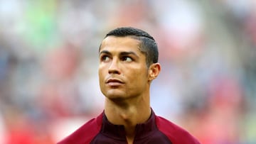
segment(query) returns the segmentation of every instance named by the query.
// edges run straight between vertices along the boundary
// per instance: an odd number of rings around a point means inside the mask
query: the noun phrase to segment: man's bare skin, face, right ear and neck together
[[[108,36],[99,52],[105,114],[111,123],[124,125],[128,143],[133,143],[137,123],[144,123],[151,115],[149,88],[161,70],[159,63],[146,66],[139,43],[129,36]]]

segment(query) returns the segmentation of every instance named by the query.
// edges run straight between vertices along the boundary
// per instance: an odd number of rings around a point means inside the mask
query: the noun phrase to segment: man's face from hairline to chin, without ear
[[[139,40],[108,36],[100,47],[100,89],[109,99],[129,99],[149,91],[146,57]]]

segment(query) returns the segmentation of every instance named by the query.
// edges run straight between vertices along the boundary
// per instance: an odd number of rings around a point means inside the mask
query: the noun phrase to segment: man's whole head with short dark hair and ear
[[[160,72],[154,39],[136,28],[117,28],[102,40],[99,79],[109,99],[149,96],[149,87]]]

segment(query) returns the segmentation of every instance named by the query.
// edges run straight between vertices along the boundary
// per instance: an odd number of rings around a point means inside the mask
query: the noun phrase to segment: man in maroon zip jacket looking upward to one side
[[[100,89],[105,110],[59,144],[196,144],[187,131],[156,116],[149,88],[159,75],[154,38],[137,28],[107,33],[99,50]]]

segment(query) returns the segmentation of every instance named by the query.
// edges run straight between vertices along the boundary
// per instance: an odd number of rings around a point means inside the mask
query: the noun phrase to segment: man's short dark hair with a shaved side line
[[[122,27],[110,31],[109,33],[107,33],[105,38],[110,35],[114,35],[117,37],[131,36],[132,38],[139,40],[141,42],[139,48],[146,56],[146,65],[149,67],[149,65],[151,65],[152,63],[158,62],[158,46],[154,38],[149,35],[149,33],[146,33],[145,31],[142,31],[138,28]]]

